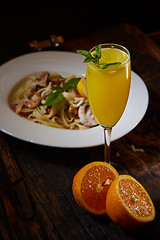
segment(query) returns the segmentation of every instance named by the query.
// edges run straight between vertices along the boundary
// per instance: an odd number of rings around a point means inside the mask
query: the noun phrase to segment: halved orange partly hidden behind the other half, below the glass
[[[85,165],[73,179],[72,192],[77,204],[92,214],[106,214],[106,195],[118,176],[116,169],[106,162]]]

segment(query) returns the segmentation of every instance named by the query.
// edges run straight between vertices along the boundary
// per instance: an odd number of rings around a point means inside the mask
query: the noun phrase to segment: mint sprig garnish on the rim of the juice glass
[[[100,63],[99,60],[101,58],[101,45],[97,45],[95,47],[95,53],[92,55],[89,51],[86,50],[77,50],[77,53],[85,56],[84,63],[92,62],[94,63],[98,69],[106,69],[109,67],[120,65],[121,62],[113,62],[113,63]]]

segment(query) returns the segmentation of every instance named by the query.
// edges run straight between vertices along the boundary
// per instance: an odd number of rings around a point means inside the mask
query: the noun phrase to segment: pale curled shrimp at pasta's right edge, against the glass
[[[88,101],[79,107],[78,115],[80,122],[86,127],[92,127],[98,124],[95,117],[93,116]]]

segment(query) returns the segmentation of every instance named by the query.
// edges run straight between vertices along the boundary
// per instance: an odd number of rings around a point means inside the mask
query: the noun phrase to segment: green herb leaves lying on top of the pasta
[[[63,92],[66,90],[75,90],[80,79],[81,78],[73,78],[65,83],[63,87],[58,85],[54,86],[52,90],[56,91],[48,95],[44,106],[52,106],[53,104],[61,102],[63,99]]]

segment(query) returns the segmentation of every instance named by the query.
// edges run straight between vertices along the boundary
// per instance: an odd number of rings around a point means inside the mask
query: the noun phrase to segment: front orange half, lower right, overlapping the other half
[[[106,197],[108,216],[121,227],[134,229],[155,218],[153,202],[144,187],[132,176],[119,175]]]

